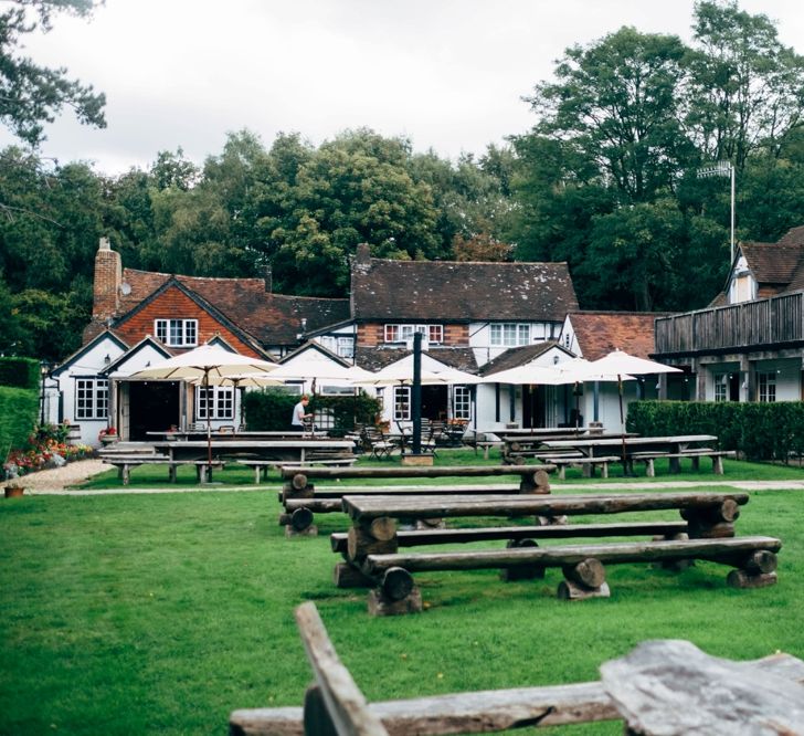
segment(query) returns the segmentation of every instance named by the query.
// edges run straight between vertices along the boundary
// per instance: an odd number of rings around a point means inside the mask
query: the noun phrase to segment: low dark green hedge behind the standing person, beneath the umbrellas
[[[250,430],[281,432],[290,425],[293,408],[298,403],[298,395],[286,393],[278,389],[247,391],[243,399],[245,422]],[[380,413],[380,402],[366,395],[351,396],[310,396],[308,412],[331,409],[335,427],[329,430],[334,437],[342,435],[355,429],[355,424],[372,424]]]

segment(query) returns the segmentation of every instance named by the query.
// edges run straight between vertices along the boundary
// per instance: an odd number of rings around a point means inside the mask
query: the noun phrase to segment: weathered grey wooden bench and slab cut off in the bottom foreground
[[[691,727],[679,719],[688,716],[695,718],[698,733],[723,733],[724,723],[730,733],[742,733],[740,726],[748,728],[758,714],[762,723],[779,724],[780,733],[793,734],[804,719],[801,660],[777,653],[730,662],[679,640],[639,644],[627,656],[604,663],[600,682],[367,703],[338,658],[315,603],[303,603],[295,616],[315,677],[304,707],[233,711],[230,736],[442,736],[623,719],[633,728],[630,733],[650,735],[656,730],[646,718],[655,718],[664,728],[674,724],[673,733],[686,733]],[[635,688],[634,682],[645,676],[657,686]],[[720,696],[709,696],[701,682],[716,687]],[[636,706],[635,697],[643,698]],[[741,704],[741,721],[734,703]]]

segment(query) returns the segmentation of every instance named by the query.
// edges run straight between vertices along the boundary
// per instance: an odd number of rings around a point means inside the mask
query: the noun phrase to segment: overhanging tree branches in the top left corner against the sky
[[[12,7],[0,12],[0,120],[15,136],[38,146],[44,139],[43,123],[52,123],[64,105],[86,125],[106,127],[103,107],[106,97],[95,94],[92,85],[82,85],[66,76],[64,69],[38,66],[17,52],[22,36],[38,28],[51,29],[52,15],[66,12],[88,17],[93,0],[11,0]]]

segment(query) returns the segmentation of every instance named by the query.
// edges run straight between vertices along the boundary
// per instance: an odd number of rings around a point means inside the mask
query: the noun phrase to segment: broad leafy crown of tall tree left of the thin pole
[[[535,133],[593,160],[622,203],[650,201],[673,187],[689,150],[678,109],[685,55],[678,38],[633,28],[568,49],[558,81],[527,99],[539,116]]]

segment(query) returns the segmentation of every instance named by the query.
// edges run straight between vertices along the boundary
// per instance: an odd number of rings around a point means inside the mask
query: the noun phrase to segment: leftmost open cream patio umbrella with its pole
[[[224,376],[240,374],[266,374],[276,368],[275,362],[252,358],[251,356],[231,353],[214,345],[202,345],[181,355],[176,355],[162,362],[137,371],[130,378],[165,378],[165,379],[201,379],[200,385],[210,387],[211,380]],[[209,401],[209,392],[207,392]],[[209,403],[207,406],[207,459],[212,472],[212,429],[210,425]]]

